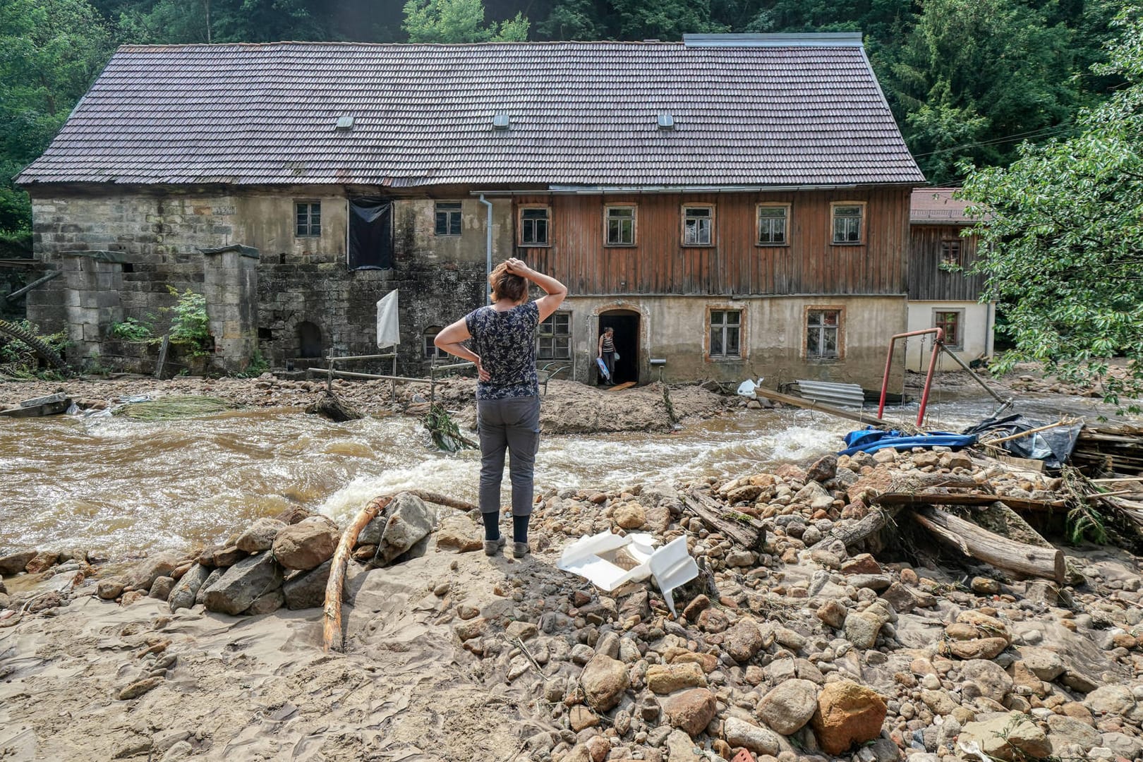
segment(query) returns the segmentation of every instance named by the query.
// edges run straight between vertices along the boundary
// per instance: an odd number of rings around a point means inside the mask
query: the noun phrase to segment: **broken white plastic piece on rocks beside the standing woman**
[[[671,592],[697,577],[698,564],[687,552],[686,537],[678,537],[658,550],[655,543],[654,537],[641,532],[620,537],[604,531],[581,537],[563,550],[555,568],[583,577],[608,593],[624,583],[654,577],[668,608],[674,613]]]

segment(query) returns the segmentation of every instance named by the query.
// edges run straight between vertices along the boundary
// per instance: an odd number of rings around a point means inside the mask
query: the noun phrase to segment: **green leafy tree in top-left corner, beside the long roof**
[[[87,0],[0,0],[0,231],[31,227],[10,178],[48,146],[111,50]]]

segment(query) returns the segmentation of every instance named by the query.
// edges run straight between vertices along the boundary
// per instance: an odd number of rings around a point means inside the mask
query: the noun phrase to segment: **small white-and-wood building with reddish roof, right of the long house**
[[[981,302],[984,275],[966,274],[976,264],[976,224],[954,199],[954,187],[913,191],[910,211],[909,330],[943,328],[945,346],[968,363],[992,355],[996,303]],[[913,340],[906,350],[910,370],[928,370],[932,344]],[[937,370],[960,366],[938,355]]]

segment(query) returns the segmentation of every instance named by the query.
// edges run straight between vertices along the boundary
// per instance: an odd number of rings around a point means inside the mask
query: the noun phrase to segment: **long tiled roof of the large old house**
[[[864,50],[844,37],[123,46],[17,181],[922,182]],[[509,129],[493,129],[497,113]],[[660,113],[673,130],[657,128]],[[343,115],[352,130],[335,128]]]

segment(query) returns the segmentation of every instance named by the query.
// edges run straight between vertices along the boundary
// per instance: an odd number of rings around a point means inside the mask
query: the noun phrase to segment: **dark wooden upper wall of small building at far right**
[[[964,270],[976,263],[976,235],[961,236],[965,225],[913,223],[910,230],[909,298],[933,302],[976,302],[984,291],[984,275],[941,266],[956,247]]]

